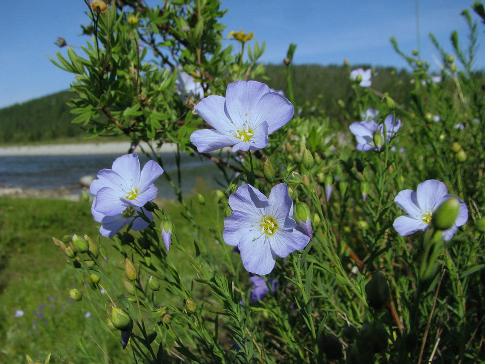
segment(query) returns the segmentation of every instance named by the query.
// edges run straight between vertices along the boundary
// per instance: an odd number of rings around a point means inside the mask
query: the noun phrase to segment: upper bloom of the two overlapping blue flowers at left
[[[91,183],[91,193],[96,195],[92,210],[102,215],[115,216],[123,213],[128,206],[135,210],[144,206],[157,196],[157,188],[153,182],[162,173],[162,167],[155,161],[148,161],[140,172],[140,162],[136,154],[116,158],[112,169],[100,170],[98,179]],[[128,215],[133,214],[134,212],[130,212]]]

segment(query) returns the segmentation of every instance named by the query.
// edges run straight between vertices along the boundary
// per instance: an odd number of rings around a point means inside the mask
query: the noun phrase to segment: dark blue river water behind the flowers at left
[[[122,154],[99,155],[43,155],[43,156],[0,156],[0,185],[32,189],[79,188],[82,176],[93,175],[103,168],[111,168],[113,161]],[[148,161],[138,154],[140,165]],[[173,153],[162,154],[163,169],[177,183],[177,166]],[[182,191],[191,192],[198,181],[207,187],[217,187],[216,179],[224,181],[219,169],[209,161],[198,157],[181,155]],[[155,185],[158,196],[174,198],[172,187],[163,175]],[[80,191],[80,190],[79,190]]]

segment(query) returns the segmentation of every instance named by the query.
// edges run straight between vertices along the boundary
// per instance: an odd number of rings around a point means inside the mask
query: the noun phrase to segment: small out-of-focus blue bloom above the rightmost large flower
[[[384,137],[384,127],[386,129],[386,137]],[[375,120],[356,121],[350,124],[349,129],[357,139],[358,150],[381,150],[382,146],[389,143],[392,137],[401,128],[401,119],[394,119],[394,115],[389,115],[384,120],[384,124],[377,125]],[[382,136],[382,145],[376,146],[374,144],[374,136],[376,133]]]

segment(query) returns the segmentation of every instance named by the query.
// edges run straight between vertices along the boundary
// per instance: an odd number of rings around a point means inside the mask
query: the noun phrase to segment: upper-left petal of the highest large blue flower
[[[211,95],[195,105],[195,112],[212,128],[225,134],[233,129],[233,123],[224,111],[226,99],[222,96]],[[195,144],[195,143],[194,143]]]

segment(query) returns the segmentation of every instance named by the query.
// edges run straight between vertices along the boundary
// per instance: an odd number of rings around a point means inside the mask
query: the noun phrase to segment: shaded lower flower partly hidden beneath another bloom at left
[[[153,221],[153,215],[151,212],[147,211],[146,209],[142,209],[141,207],[133,207],[129,205],[126,206],[124,211],[113,216],[101,214],[94,209],[96,199],[97,198],[93,200],[93,204],[91,205],[91,214],[93,214],[95,221],[102,224],[99,227],[99,233],[108,238],[116,235],[117,232],[131,222],[133,222],[131,225],[131,230],[139,232],[145,229],[148,225],[150,225],[150,222]],[[139,215],[145,215],[150,222],[145,221],[145,219]]]

